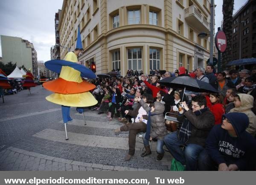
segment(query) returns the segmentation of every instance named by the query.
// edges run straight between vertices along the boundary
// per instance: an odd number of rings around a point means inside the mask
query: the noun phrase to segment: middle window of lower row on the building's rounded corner
[[[142,48],[128,49],[128,69],[142,70]]]

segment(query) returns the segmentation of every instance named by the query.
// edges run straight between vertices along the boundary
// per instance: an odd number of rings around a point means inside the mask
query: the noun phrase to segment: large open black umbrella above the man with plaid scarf
[[[218,90],[212,87],[211,84],[189,76],[168,77],[158,82],[162,85],[184,89],[184,91],[190,90],[197,93],[218,93]]]

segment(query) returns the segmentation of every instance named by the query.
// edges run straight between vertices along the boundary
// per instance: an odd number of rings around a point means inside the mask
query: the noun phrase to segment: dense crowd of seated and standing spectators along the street
[[[189,76],[209,83],[218,93],[198,93],[163,86],[159,81],[172,76]],[[164,157],[163,145],[186,170],[255,170],[256,163],[256,70],[232,69],[214,73],[214,67],[188,72],[128,70],[125,76],[91,81],[99,104],[92,107],[123,122],[114,132],[129,131],[129,152],[135,153],[136,136],[143,133],[145,151],[157,141],[157,161]],[[185,95],[184,95],[185,94]],[[177,120],[166,119],[171,115]],[[254,157],[253,157],[254,156]]]

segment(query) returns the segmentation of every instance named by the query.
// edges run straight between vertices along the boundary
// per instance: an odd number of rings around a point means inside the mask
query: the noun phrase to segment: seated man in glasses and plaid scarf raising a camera
[[[215,119],[202,95],[192,97],[191,109],[183,101],[179,110],[177,120],[182,123],[180,130],[166,135],[164,142],[172,156],[186,165],[186,171],[196,171],[198,156],[204,150]],[[185,147],[184,150],[182,147]]]

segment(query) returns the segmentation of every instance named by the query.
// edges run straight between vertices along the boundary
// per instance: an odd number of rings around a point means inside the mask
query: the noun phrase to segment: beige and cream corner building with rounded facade
[[[189,71],[209,58],[208,0],[64,0],[59,21],[60,43],[76,47],[78,25],[84,66],[96,74],[120,69]],[[67,53],[61,48],[61,58]]]

